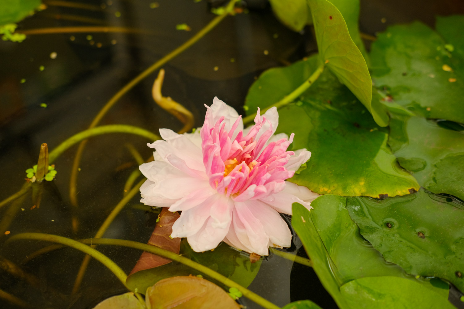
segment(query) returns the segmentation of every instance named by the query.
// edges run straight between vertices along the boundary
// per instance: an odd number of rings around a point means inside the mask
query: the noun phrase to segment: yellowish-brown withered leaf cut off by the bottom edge
[[[239,309],[225,290],[212,282],[194,276],[170,277],[147,289],[148,309]]]

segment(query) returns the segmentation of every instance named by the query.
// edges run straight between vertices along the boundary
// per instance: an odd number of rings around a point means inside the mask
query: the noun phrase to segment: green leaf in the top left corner
[[[1,0],[0,25],[19,22],[39,5],[40,0]]]

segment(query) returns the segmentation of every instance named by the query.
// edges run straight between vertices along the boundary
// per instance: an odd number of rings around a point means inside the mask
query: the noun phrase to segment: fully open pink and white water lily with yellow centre
[[[147,181],[140,187],[144,204],[180,211],[171,237],[187,237],[196,252],[221,241],[246,252],[268,255],[269,246],[289,247],[291,233],[279,213],[291,214],[293,202],[311,208],[317,196],[285,181],[311,152],[287,151],[293,140],[274,135],[278,113],[258,113],[243,128],[241,116],[218,98],[207,107],[201,130],[177,134],[160,129],[164,140],[155,161],[142,164]]]

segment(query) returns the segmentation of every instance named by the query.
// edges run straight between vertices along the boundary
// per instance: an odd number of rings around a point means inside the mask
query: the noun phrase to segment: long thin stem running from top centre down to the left
[[[188,39],[187,42],[177,47],[175,50],[171,51],[168,55],[162,57],[160,60],[152,64],[148,69],[143,71],[127,85],[125,85],[121,90],[119,90],[113,97],[108,101],[105,106],[100,110],[100,112],[95,116],[94,120],[90,124],[89,128],[97,126],[97,124],[102,120],[103,116],[110,110],[110,108],[119,100],[123,95],[125,95],[130,89],[132,89],[136,84],[141,82],[145,77],[153,73],[156,69],[159,69],[163,64],[167,63],[169,60],[173,59],[181,52],[195,44],[200,38],[203,38],[206,33],[210,32],[216,25],[218,25],[227,15],[232,11],[235,3],[238,0],[231,0],[226,7],[226,10],[222,15],[215,17],[212,21],[209,22],[203,29],[197,32],[192,38]],[[77,169],[80,164],[82,153],[84,152],[86,141],[82,141],[77,149],[76,156],[74,157],[74,162],[71,168],[71,177],[70,177],[70,190],[69,197],[71,205],[77,207],[77,197],[76,197],[76,183],[77,183]]]

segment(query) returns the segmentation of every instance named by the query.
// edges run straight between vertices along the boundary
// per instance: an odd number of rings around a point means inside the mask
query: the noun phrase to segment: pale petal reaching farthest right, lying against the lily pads
[[[285,188],[273,195],[265,196],[259,201],[271,205],[279,213],[292,214],[291,206],[297,202],[304,207],[311,209],[311,202],[318,196],[317,193],[312,192],[304,186],[298,186],[295,183],[285,182]]]

